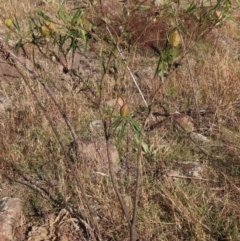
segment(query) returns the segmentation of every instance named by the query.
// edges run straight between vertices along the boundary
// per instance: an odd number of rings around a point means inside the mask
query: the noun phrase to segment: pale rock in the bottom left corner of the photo
[[[13,227],[21,215],[21,200],[4,197],[0,200],[0,240],[13,240]]]

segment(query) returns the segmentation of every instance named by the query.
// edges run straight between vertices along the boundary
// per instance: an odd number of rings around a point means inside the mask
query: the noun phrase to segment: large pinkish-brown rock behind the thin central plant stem
[[[86,137],[78,140],[80,161],[83,168],[90,171],[109,173],[107,145],[104,138]],[[72,148],[76,145],[71,143]],[[119,170],[119,153],[115,145],[109,143],[109,156],[113,171]]]

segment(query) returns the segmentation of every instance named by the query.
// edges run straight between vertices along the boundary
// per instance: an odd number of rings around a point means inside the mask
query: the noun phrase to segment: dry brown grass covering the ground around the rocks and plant
[[[30,1],[21,4],[9,1],[2,3],[2,6],[2,19],[16,15],[23,32],[28,31],[30,16],[36,20],[39,18]],[[70,1],[66,7],[73,14]],[[114,11],[107,15],[111,7]],[[56,18],[57,3],[38,8],[55,19],[57,28],[64,33],[66,23]],[[29,85],[38,101],[21,78],[5,81],[4,76],[1,77],[1,92],[11,100],[10,108],[1,114],[1,196],[20,197],[24,203],[25,226],[45,225],[49,233],[55,235],[51,237],[53,240],[62,240],[60,237],[64,235],[66,240],[100,240],[99,237],[101,240],[129,240],[128,223],[110,176],[92,170],[82,172],[74,153],[69,152],[71,133],[59,109],[38,82],[41,79],[50,87],[79,137],[103,135],[103,130],[92,133],[89,124],[101,118],[110,121],[112,107],[106,107],[104,102],[117,96],[128,102],[133,118],[142,125],[148,111],[115,44],[109,38],[107,23],[115,41],[124,50],[130,69],[133,72],[146,70],[145,75],[137,80],[148,103],[159,87],[152,105],[156,119],[153,122],[149,118],[148,124],[153,128],[144,129],[142,137],[149,149],[142,151],[141,159],[142,183],[136,220],[139,240],[239,240],[238,25],[228,20],[214,27],[208,35],[197,38],[197,35],[190,35],[191,29],[196,28],[192,15],[179,12],[177,17],[186,18],[183,23],[192,27],[188,28],[188,33],[182,34],[186,43],[188,40],[193,43],[189,51],[195,84],[193,90],[185,58],[179,55],[182,47],[173,54],[177,57],[173,57],[167,66],[164,83],[160,78],[154,78],[159,56],[156,50],[153,56],[151,47],[154,46],[159,52],[164,49],[168,34],[174,27],[174,18],[167,24],[170,13],[162,14],[163,10],[159,10],[158,20],[151,24],[151,16],[156,15],[153,7],[147,11],[136,11],[125,19],[114,4],[103,6],[102,12],[90,5],[83,11],[86,13],[83,29],[89,31],[91,39],[86,52],[83,51],[84,41],[79,40],[82,52],[77,56],[79,63],[74,64],[79,65],[82,79],[70,74],[71,71],[64,74],[61,63],[51,61],[49,52],[57,50],[51,41],[48,46],[43,46],[46,56],[40,52],[35,56],[41,65],[40,69],[35,69],[40,77],[33,79],[24,72],[25,76],[29,76]],[[232,14],[239,19],[236,12]],[[94,29],[96,26],[89,23],[89,18],[95,25],[100,21],[98,28]],[[210,23],[202,25],[199,31],[204,31]],[[119,31],[120,26],[125,27],[128,35]],[[4,29],[1,38],[5,39],[9,30],[3,22],[1,29]],[[11,34],[13,42],[16,43],[18,38],[19,35]],[[60,53],[59,57],[65,65],[63,54]],[[71,58],[67,57],[67,60],[69,67]],[[181,66],[175,68],[174,62],[181,62]],[[24,68],[22,71],[25,71]],[[91,76],[90,79],[88,76]],[[99,87],[101,83],[102,89]],[[116,84],[119,87],[117,91],[114,90]],[[121,88],[123,86],[126,91]],[[99,105],[100,93],[102,102]],[[207,137],[208,142],[194,140],[181,127],[176,127],[175,111],[191,116],[195,132]],[[118,111],[114,113],[117,115]],[[55,135],[54,128],[59,136]],[[121,171],[116,179],[127,213],[131,216],[138,145],[130,128],[121,144],[117,144],[116,133],[110,139],[116,143],[120,153]],[[61,148],[61,143],[64,148]],[[201,177],[192,178],[182,173],[178,173],[178,177],[166,175],[168,170],[177,171],[180,162],[200,163]],[[87,204],[93,212],[92,216]],[[28,240],[29,232],[21,231],[21,228],[16,240]],[[20,235],[21,232],[23,234]]]

